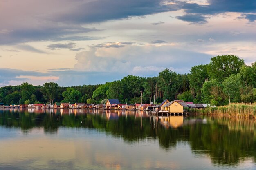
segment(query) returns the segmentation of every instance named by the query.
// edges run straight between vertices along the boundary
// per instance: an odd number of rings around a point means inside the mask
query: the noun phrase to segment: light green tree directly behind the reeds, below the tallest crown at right
[[[223,84],[223,92],[229,98],[229,104],[232,102],[239,102],[240,88],[241,88],[241,75],[231,75],[227,77]]]

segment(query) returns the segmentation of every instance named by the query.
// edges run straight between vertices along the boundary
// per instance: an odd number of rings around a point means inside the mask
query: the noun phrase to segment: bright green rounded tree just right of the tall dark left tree
[[[64,99],[61,101],[63,103],[75,103],[81,101],[81,93],[80,91],[74,88],[67,88],[67,91],[62,93]]]

